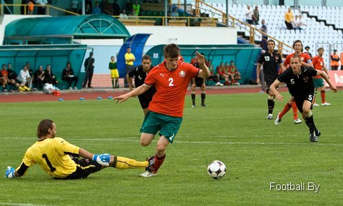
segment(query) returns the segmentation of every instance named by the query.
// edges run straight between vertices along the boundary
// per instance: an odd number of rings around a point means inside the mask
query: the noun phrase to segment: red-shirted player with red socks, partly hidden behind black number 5
[[[290,66],[290,59],[294,56],[297,55],[300,57],[301,59],[301,66],[310,66],[313,67],[312,64],[312,60],[310,55],[308,55],[308,53],[304,53],[303,52],[303,44],[301,43],[300,40],[296,40],[293,43],[293,49],[294,49],[294,53],[288,55],[285,58],[285,62],[283,62],[283,65],[285,66],[285,68],[288,68],[288,66]],[[290,108],[292,108],[293,110],[293,118],[294,118],[294,124],[300,124],[302,121],[298,118],[298,109],[297,109],[297,104],[295,104],[293,97],[290,97],[290,100],[285,104],[285,107],[283,108],[283,111],[281,111],[280,113],[278,113],[278,115],[276,115],[276,120],[274,122],[275,125],[279,125],[281,122],[281,118],[283,117],[283,115],[285,115],[285,113],[287,113],[288,111],[290,111]]]

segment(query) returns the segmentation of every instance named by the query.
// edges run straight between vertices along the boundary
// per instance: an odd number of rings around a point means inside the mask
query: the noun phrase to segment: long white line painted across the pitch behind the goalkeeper
[[[281,136],[281,135],[280,135]],[[337,136],[337,135],[335,135]],[[224,136],[220,136],[224,137]],[[284,137],[284,136],[283,136]],[[1,139],[1,138],[0,138]],[[34,138],[2,138],[2,139],[22,139],[22,140],[35,140]],[[87,140],[87,141],[107,141],[107,142],[139,142],[139,138],[127,138],[127,139],[114,139],[114,138],[85,138],[85,139],[74,139],[74,138],[68,138],[68,141],[70,140]],[[321,146],[337,146],[337,147],[343,147],[343,144],[322,144],[322,143],[297,143],[297,142],[192,142],[192,141],[174,141],[178,144],[252,144],[252,145],[308,145],[308,144],[315,144],[315,145],[321,145]]]

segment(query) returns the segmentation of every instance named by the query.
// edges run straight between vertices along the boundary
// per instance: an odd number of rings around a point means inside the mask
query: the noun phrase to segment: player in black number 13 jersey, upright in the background
[[[265,92],[268,94],[268,115],[267,119],[272,120],[273,119],[273,110],[274,110],[274,99],[275,95],[270,91],[270,85],[277,79],[279,76],[279,66],[281,68],[281,71],[284,71],[282,64],[282,58],[281,55],[275,51],[275,41],[270,39],[267,41],[267,48],[268,50],[261,54],[258,61],[257,61],[257,68],[256,68],[256,82],[265,84]],[[265,75],[265,82],[260,82],[260,72],[261,72],[261,66],[263,65],[263,73]]]

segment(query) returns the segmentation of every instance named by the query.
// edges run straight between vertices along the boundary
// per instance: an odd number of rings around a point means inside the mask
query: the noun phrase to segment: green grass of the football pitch
[[[283,93],[287,100],[288,93]],[[135,98],[29,102],[1,105],[0,205],[340,205],[342,197],[341,93],[327,93],[332,106],[313,109],[322,131],[319,142],[308,138],[303,122],[295,125],[292,110],[279,126],[267,120],[267,95],[207,95],[206,108],[191,108],[186,97],[184,121],[168,146],[166,161],[153,178],[143,170],[107,168],[84,180],[53,180],[38,166],[21,178],[7,179],[35,142],[39,120],[51,118],[57,136],[92,153],[111,153],[145,160],[156,140],[139,144],[143,112]],[[317,98],[319,101],[320,97]],[[276,102],[274,117],[285,102]],[[300,116],[300,114],[299,114]],[[227,174],[214,180],[206,173],[221,160]],[[270,182],[297,185],[314,182],[319,191],[270,190]]]

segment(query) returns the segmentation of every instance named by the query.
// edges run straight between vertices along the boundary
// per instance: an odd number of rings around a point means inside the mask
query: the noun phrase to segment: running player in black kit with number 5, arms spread
[[[306,125],[310,129],[310,141],[317,142],[320,131],[315,127],[313,121],[313,114],[311,112],[313,100],[315,100],[315,84],[313,84],[313,77],[321,75],[328,85],[337,92],[336,86],[331,84],[328,76],[323,71],[317,71],[313,67],[301,66],[301,59],[299,56],[294,55],[290,59],[290,67],[287,68],[270,86],[270,91],[274,93],[276,99],[283,100],[283,96],[276,90],[279,84],[287,84],[290,95],[294,97],[298,110],[303,116]]]

